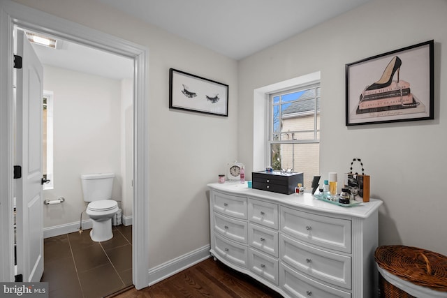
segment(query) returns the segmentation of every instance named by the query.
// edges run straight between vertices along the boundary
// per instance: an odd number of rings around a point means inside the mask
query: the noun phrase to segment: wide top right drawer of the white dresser
[[[282,207],[281,231],[324,248],[351,253],[351,221]]]

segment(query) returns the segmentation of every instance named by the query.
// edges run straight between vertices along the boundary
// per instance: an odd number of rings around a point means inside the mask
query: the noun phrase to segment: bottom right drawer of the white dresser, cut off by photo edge
[[[279,265],[279,285],[291,297],[350,298],[350,292],[318,283],[284,265]]]

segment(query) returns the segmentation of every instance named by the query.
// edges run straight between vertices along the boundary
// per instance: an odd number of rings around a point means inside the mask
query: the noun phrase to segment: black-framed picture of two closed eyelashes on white
[[[228,117],[228,85],[170,68],[169,108]]]

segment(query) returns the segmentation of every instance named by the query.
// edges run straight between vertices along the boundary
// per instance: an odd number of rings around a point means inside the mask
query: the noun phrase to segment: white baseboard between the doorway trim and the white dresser
[[[191,253],[186,253],[186,255],[181,255],[169,262],[149,269],[149,286],[154,285],[154,283],[158,283],[159,281],[163,281],[163,279],[173,276],[179,271],[196,265],[198,262],[210,258],[210,256],[210,245],[207,245],[196,249],[196,251],[191,251]]]

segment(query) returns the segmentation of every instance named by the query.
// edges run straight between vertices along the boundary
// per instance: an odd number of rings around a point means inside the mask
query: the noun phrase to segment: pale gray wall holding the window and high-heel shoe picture
[[[240,159],[252,161],[254,89],[321,70],[323,177],[362,158],[372,197],[384,202],[379,244],[447,255],[446,15],[445,0],[374,0],[240,61]],[[435,119],[346,127],[345,64],[432,39]]]

